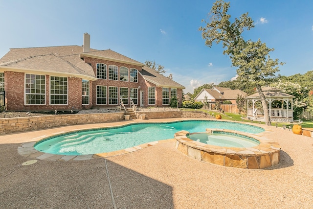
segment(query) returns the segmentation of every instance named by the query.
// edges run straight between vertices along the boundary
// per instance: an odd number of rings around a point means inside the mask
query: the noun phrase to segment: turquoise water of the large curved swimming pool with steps
[[[142,123],[71,132],[38,141],[34,147],[38,151],[51,154],[88,155],[126,149],[156,140],[173,139],[174,134],[181,130],[192,133],[204,132],[206,128],[230,129],[251,134],[264,131],[256,126],[212,120]]]

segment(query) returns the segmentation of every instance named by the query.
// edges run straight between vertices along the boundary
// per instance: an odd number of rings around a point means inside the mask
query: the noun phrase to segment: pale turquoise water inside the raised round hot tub
[[[240,136],[238,134],[232,135],[231,133],[211,134],[211,133],[199,133],[191,134],[189,139],[200,141],[202,143],[223,146],[223,147],[253,147],[260,144],[256,139]]]

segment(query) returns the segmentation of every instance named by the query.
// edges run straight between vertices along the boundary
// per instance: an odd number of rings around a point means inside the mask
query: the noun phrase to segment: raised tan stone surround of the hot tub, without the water
[[[188,131],[179,131],[174,135],[175,146],[183,154],[197,160],[227,167],[263,169],[277,165],[280,161],[281,146],[272,139],[258,134],[226,129],[206,129],[206,132],[229,132],[256,139],[260,142],[254,147],[222,147],[209,145],[189,139]]]

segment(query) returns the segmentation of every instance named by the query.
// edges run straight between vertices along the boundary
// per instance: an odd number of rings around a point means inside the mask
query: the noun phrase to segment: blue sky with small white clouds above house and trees
[[[0,0],[0,57],[9,48],[82,45],[112,49],[136,61],[155,61],[184,93],[236,76],[222,45],[201,37],[215,0]],[[230,0],[232,18],[249,12],[255,27],[246,39],[275,48],[280,74],[313,70],[312,0]]]

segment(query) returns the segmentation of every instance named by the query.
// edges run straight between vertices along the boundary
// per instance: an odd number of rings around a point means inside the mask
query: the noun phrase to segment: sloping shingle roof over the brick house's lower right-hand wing
[[[184,86],[173,81],[172,79],[165,77],[164,75],[158,73],[156,70],[148,68],[147,66],[142,67],[142,70],[139,73],[149,82],[156,84],[160,87],[170,87],[170,88],[179,88],[185,89]]]

